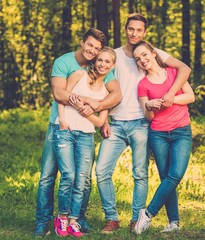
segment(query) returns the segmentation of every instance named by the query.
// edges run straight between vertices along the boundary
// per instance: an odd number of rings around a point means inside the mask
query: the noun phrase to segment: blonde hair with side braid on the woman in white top
[[[113,56],[113,63],[115,64],[116,58],[117,58],[116,53],[115,53],[115,51],[114,51],[113,48],[107,47],[107,46],[105,46],[104,48],[102,48],[102,49],[99,51],[99,53],[97,54],[97,56],[96,56],[96,58],[95,58],[95,61],[97,60],[98,56],[99,56],[102,52],[108,52],[108,53],[110,53],[110,54]],[[89,67],[89,69],[88,69],[88,75],[89,75],[89,77],[92,79],[92,83],[91,83],[91,84],[93,84],[93,83],[96,81],[97,77],[98,77],[98,72],[97,72],[96,67],[95,67],[95,61],[90,64],[90,67]]]

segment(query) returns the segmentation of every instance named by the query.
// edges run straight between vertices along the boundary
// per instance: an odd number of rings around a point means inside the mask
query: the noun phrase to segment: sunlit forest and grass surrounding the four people
[[[87,214],[93,232],[84,239],[205,239],[204,9],[205,0],[0,1],[0,239],[34,239],[41,153],[53,100],[50,75],[54,59],[77,50],[83,33],[90,27],[101,29],[109,46],[123,45],[124,23],[133,12],[148,18],[147,41],[192,68],[189,82],[196,96],[196,102],[189,105],[193,151],[178,187],[182,231],[172,235],[159,233],[167,224],[162,209],[147,233],[138,237],[129,233],[133,181],[128,148],[113,176],[122,228],[112,236],[100,234],[104,215],[93,172]],[[97,132],[96,155],[100,141]],[[160,181],[152,160],[148,201]],[[57,187],[56,184],[56,200]],[[57,201],[54,214],[56,211]],[[58,237],[52,231],[48,239]]]

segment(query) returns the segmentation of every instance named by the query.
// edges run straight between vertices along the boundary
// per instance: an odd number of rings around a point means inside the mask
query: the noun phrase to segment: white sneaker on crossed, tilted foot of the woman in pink
[[[137,234],[141,234],[150,226],[152,219],[146,215],[145,211],[146,209],[141,209],[139,212],[139,219],[135,225],[135,232]]]

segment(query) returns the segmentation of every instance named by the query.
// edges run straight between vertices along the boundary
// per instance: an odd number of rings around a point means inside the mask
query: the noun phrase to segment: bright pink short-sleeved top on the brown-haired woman
[[[138,85],[138,96],[147,96],[150,100],[162,98],[173,85],[177,74],[175,68],[166,68],[166,71],[167,79],[161,84],[152,83],[147,77],[144,77]],[[179,90],[175,95],[180,94],[182,94],[182,90]],[[171,131],[189,124],[190,118],[187,105],[173,104],[171,107],[154,113],[150,128],[157,131]]]

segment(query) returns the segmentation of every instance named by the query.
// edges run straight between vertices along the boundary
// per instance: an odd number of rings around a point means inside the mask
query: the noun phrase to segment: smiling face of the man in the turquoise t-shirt
[[[94,37],[89,36],[85,42],[81,42],[81,48],[83,57],[87,61],[91,61],[97,56],[98,52],[102,48],[102,44]]]

